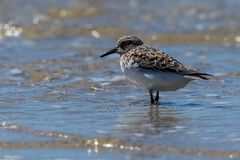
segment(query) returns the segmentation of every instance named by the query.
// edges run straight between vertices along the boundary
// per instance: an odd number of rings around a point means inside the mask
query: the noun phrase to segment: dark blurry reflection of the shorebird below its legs
[[[179,117],[178,110],[173,107],[150,105],[136,112],[128,114],[127,119],[121,124],[121,132],[124,134],[159,135],[164,131],[175,129],[175,126],[183,120]]]

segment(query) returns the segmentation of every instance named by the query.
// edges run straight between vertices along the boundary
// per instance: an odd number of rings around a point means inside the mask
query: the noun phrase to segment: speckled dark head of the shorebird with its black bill
[[[105,57],[113,53],[117,53],[120,56],[127,53],[130,49],[134,49],[138,46],[141,46],[143,41],[140,40],[138,37],[133,35],[123,36],[118,39],[117,45],[115,48],[109,50],[105,54],[101,55],[100,57]]]

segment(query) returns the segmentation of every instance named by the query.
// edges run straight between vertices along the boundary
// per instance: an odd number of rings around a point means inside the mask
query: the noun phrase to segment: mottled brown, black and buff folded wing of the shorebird
[[[210,74],[200,73],[187,68],[168,54],[151,47],[138,47],[133,55],[134,58],[132,60],[138,64],[140,70],[172,72],[201,79],[207,79],[205,76],[211,76]]]

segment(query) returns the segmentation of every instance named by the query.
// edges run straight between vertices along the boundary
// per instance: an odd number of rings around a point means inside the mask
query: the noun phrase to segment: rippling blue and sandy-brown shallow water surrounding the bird
[[[0,3],[0,159],[240,158],[240,2]],[[125,34],[215,77],[151,106],[99,58]]]

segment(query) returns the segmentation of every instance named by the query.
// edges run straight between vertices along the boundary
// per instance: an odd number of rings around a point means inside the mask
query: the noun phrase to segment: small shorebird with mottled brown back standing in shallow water
[[[148,89],[151,104],[158,103],[159,91],[176,91],[192,80],[208,80],[208,76],[212,76],[185,67],[165,52],[144,44],[134,35],[119,38],[116,47],[100,57],[113,53],[120,55],[120,66],[127,79]]]

